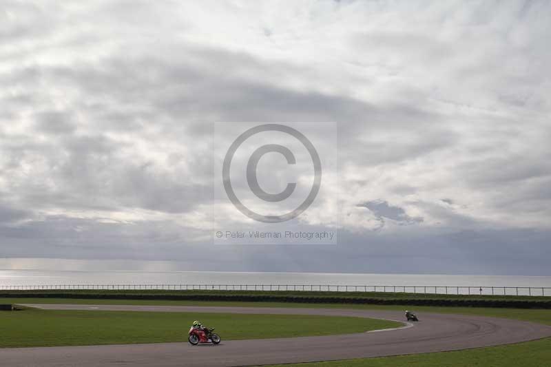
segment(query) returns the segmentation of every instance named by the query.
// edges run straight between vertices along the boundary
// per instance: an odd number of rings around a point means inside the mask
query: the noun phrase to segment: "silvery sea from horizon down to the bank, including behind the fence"
[[[551,295],[550,276],[0,270],[0,289],[41,289],[56,286]]]

